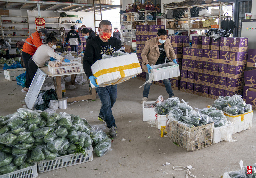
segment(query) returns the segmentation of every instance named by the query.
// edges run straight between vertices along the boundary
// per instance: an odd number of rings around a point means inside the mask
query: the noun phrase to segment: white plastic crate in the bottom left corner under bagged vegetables
[[[33,166],[0,175],[0,178],[35,178],[37,176],[37,163],[35,163]]]

